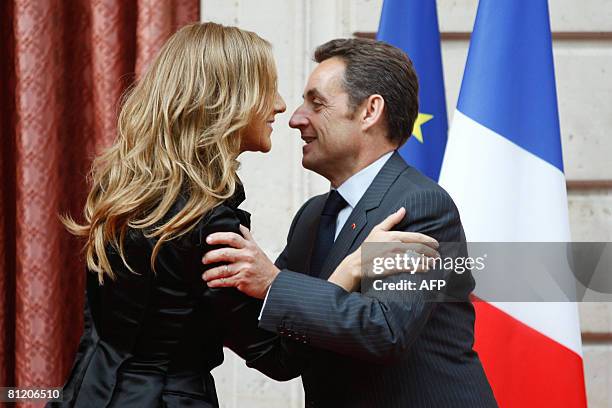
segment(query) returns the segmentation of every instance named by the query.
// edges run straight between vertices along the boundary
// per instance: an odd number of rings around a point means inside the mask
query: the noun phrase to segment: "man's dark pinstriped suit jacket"
[[[496,406],[472,350],[471,275],[455,283],[464,301],[447,303],[427,302],[419,295],[409,302],[376,299],[325,280],[372,227],[401,206],[407,216],[396,229],[422,232],[440,242],[465,242],[449,195],[395,152],[317,274],[309,271],[310,255],[326,196],[313,197],[295,216],[276,262],[281,272],[260,320],[261,328],[292,342],[307,361],[302,372],[306,406]]]

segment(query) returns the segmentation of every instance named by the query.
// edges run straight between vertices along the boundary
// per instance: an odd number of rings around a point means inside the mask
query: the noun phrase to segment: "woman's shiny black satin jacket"
[[[98,285],[87,273],[85,330],[64,386],[62,403],[75,407],[216,407],[210,370],[223,361],[223,345],[277,380],[297,376],[283,365],[277,336],[257,328],[261,301],[235,289],[210,289],[202,280],[207,235],[240,233],[249,214],[238,209],[244,190],[212,210],[184,236],[164,243],[131,230],[125,254],[132,273],[107,251],[116,280]],[[180,199],[168,216],[184,206]]]

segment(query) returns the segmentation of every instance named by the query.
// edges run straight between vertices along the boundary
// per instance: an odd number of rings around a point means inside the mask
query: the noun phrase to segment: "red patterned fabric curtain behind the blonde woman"
[[[199,0],[0,2],[0,386],[58,386],[82,330],[80,216],[120,95]]]

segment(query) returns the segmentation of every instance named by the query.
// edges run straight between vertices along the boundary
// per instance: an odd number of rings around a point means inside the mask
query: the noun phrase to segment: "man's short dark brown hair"
[[[403,145],[419,113],[419,83],[410,58],[399,48],[365,38],[331,40],[315,50],[316,62],[333,57],[346,64],[350,107],[355,110],[370,95],[382,96],[389,140]]]

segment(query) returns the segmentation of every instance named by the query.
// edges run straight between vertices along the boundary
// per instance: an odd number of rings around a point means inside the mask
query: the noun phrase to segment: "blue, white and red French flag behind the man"
[[[480,0],[440,184],[468,241],[571,240],[546,0]],[[501,407],[586,406],[576,304],[475,307]]]

